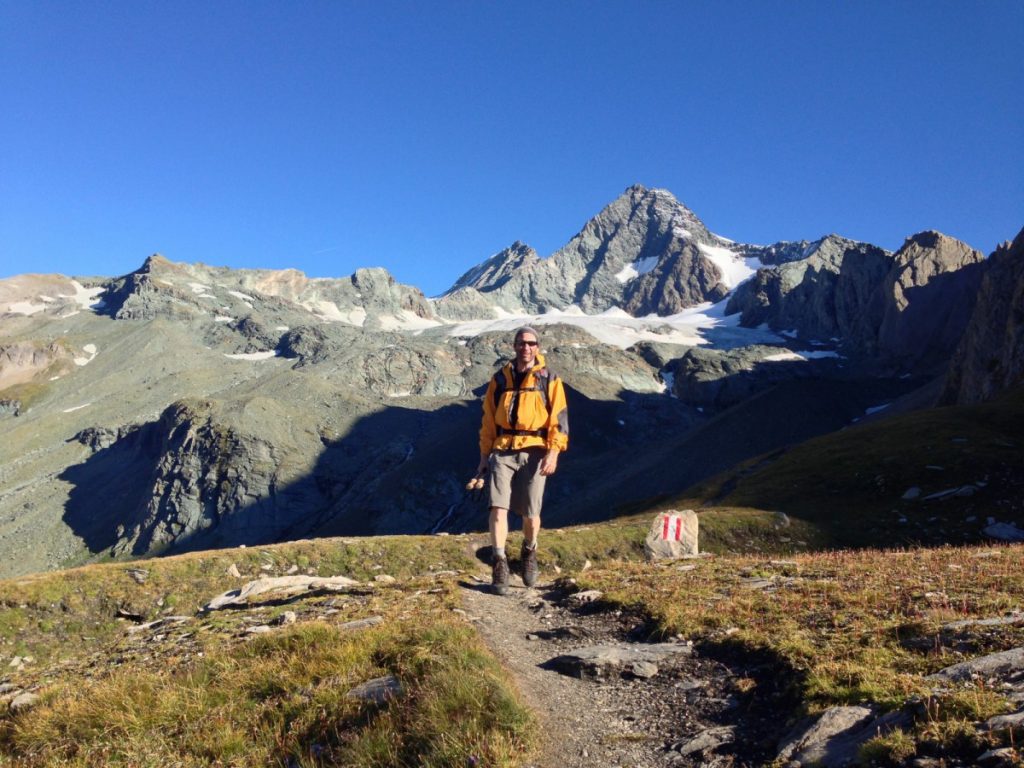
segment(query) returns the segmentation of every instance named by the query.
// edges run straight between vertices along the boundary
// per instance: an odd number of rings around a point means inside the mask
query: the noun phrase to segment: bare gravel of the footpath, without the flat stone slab
[[[739,707],[729,693],[735,675],[728,668],[694,655],[659,665],[656,677],[646,680],[560,674],[548,668],[552,658],[584,646],[646,639],[645,627],[621,611],[573,605],[552,584],[526,589],[513,575],[510,594],[499,597],[487,582],[481,573],[463,583],[463,604],[541,722],[541,750],[530,768],[761,764],[735,754],[729,738],[714,738],[729,729]],[[684,744],[697,736],[711,738],[710,745],[685,754]]]

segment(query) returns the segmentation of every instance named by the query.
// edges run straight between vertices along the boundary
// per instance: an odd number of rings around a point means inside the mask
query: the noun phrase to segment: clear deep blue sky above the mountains
[[[1024,3],[0,0],[0,276],[440,293],[630,184],[716,231],[1024,226]]]

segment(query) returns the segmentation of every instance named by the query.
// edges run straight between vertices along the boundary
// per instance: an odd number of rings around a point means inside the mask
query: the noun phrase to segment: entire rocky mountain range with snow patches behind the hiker
[[[647,492],[679,492],[849,423],[873,404],[865,376],[888,376],[887,396],[916,387],[900,377],[941,369],[986,269],[935,232],[897,254],[838,236],[733,244],[668,191],[634,186],[555,254],[517,243],[436,300],[383,269],[308,279],[159,255],[113,280],[0,281],[0,549],[38,551],[8,559],[24,572],[105,552],[475,528],[462,495],[475,400],[522,322],[544,329],[574,415],[549,521],[608,516],[637,493],[624,468]],[[1006,284],[986,283],[982,304],[1016,300]],[[676,333],[668,315],[719,299]],[[569,306],[604,316],[500,316]],[[1002,316],[977,324],[999,339]],[[750,328],[762,325],[778,333]],[[613,342],[623,329],[638,341]],[[777,409],[808,392],[829,404],[779,429]],[[732,409],[770,434],[695,439]]]

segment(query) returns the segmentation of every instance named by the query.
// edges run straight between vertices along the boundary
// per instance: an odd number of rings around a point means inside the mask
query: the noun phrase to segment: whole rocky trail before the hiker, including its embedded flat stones
[[[643,620],[558,584],[509,595],[463,582],[469,621],[541,727],[532,768],[755,766],[777,714],[741,691],[750,671],[701,657],[682,638],[647,642]],[[767,738],[766,738],[767,737]]]

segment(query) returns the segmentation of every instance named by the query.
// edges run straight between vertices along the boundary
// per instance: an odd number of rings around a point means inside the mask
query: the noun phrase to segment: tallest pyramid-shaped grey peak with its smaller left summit
[[[442,298],[475,303],[466,289],[508,311],[543,312],[575,304],[585,312],[622,307],[634,315],[672,314],[728,291],[701,246],[722,247],[692,211],[664,189],[632,186],[547,259],[517,243],[470,270]],[[455,303],[453,301],[453,303]]]

